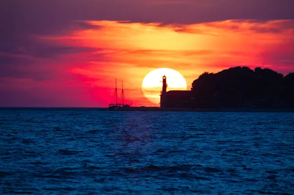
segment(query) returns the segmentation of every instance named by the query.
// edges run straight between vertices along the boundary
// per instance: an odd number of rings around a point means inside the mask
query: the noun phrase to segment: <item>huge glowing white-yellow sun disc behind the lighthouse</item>
[[[142,83],[144,96],[155,104],[160,102],[162,77],[164,75],[167,77],[167,91],[187,90],[187,82],[179,72],[168,68],[155,69],[145,76]]]

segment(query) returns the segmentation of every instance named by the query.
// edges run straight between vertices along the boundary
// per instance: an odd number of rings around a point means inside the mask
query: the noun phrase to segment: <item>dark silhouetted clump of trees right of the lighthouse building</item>
[[[294,108],[294,73],[234,67],[203,73],[192,83],[194,107]]]

